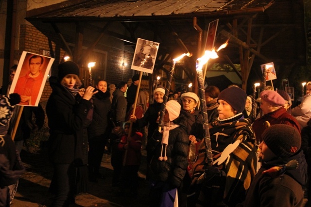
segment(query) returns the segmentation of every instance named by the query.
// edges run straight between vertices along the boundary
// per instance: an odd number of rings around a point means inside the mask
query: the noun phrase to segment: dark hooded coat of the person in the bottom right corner
[[[271,167],[283,165],[292,159],[298,161],[298,168],[285,171],[284,175],[271,177],[262,172]],[[302,186],[307,182],[307,163],[300,150],[287,159],[273,159],[262,162],[255,179],[246,194],[245,207],[301,207]]]

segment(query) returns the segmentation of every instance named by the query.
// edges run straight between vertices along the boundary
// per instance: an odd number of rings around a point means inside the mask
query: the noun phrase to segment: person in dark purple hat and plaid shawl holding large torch
[[[226,88],[218,96],[218,120],[209,126],[214,162],[207,164],[206,146],[201,142],[193,164],[190,199],[194,205],[235,206],[245,198],[257,169],[255,134],[242,113],[246,97],[238,87]]]

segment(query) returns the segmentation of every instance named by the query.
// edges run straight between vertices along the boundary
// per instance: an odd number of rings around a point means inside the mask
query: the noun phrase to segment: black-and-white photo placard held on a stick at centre
[[[133,70],[153,73],[159,45],[160,43],[138,38],[131,68]]]

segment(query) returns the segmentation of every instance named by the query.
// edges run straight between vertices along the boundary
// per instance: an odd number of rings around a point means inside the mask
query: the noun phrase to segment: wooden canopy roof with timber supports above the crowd
[[[234,70],[245,89],[251,71],[260,78],[260,64],[274,62],[281,76],[288,72],[280,68],[306,63],[303,12],[303,0],[68,0],[28,11],[26,19],[34,25],[50,23],[60,35],[62,24],[73,23],[125,44],[135,44],[138,37],[159,42],[158,64],[190,51],[193,58],[185,63],[190,79],[195,78],[193,62],[202,54],[208,23],[219,19],[215,45],[229,39],[229,46],[215,61],[233,68],[241,64],[241,71]],[[87,47],[100,41],[93,38]]]

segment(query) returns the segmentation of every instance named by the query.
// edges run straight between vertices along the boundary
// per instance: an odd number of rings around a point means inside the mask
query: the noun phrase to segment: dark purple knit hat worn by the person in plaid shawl
[[[246,98],[247,94],[241,88],[230,87],[220,92],[217,101],[224,100],[230,104],[237,113],[242,113],[245,108]]]

